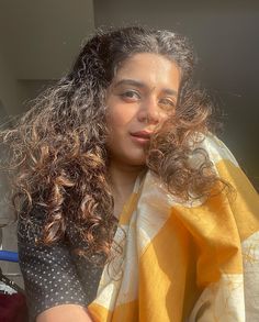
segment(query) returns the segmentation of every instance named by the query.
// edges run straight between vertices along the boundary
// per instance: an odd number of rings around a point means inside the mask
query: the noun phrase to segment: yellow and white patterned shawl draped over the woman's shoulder
[[[88,307],[100,322],[259,321],[259,200],[227,147],[202,143],[236,189],[196,203],[176,200],[150,173],[135,184]]]

